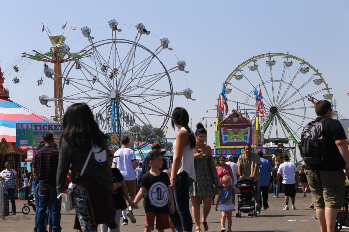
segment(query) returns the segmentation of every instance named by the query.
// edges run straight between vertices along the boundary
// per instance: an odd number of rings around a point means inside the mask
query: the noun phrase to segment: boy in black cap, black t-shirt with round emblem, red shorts
[[[141,181],[141,189],[139,190],[134,203],[137,204],[143,197],[143,206],[146,211],[145,230],[150,232],[154,230],[154,221],[156,216],[156,229],[159,232],[170,228],[168,202],[171,202],[171,214],[174,213],[173,194],[170,188],[170,179],[168,175],[162,171],[162,155],[166,151],[152,150],[147,155],[147,162],[150,170],[143,175]],[[137,205],[134,207],[138,208]]]

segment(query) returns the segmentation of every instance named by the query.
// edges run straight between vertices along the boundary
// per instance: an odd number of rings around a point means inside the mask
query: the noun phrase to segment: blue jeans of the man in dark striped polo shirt
[[[45,190],[39,190],[39,211],[38,211],[38,221],[37,221],[37,231],[45,232],[44,227],[46,210],[49,207],[52,216],[52,229],[53,231],[61,231],[61,202],[57,199],[56,187],[49,187]]]

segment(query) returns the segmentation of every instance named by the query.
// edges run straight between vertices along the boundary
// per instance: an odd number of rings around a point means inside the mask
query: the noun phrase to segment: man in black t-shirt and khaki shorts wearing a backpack
[[[312,191],[320,230],[334,231],[337,210],[343,206],[349,175],[349,152],[346,133],[338,120],[332,119],[332,105],[321,100],[315,104],[318,118],[305,126],[299,144]]]

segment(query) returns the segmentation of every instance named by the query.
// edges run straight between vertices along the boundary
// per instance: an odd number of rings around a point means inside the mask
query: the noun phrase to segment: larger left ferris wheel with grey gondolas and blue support
[[[76,54],[70,53],[66,44],[59,47],[62,53],[72,57],[72,61],[68,62],[62,75],[55,74],[50,67],[45,67],[44,72],[46,77],[61,78],[61,97],[42,96],[40,100],[58,102],[61,115],[67,106],[86,102],[106,133],[130,134],[138,141],[137,135],[145,128],[150,133],[147,141],[153,137],[161,139],[159,135],[170,118],[174,96],[192,99],[192,90],[175,91],[170,77],[176,71],[188,73],[186,63],[173,62],[167,69],[164,63],[170,60],[166,54],[172,50],[170,41],[163,38],[156,44],[146,38],[152,46],[156,45],[155,49],[148,49],[140,43],[141,38],[150,34],[142,23],[135,26],[133,40],[118,38],[122,32],[116,20],[108,23],[109,39],[95,41],[91,29],[83,27],[82,34],[89,42],[87,47]]]

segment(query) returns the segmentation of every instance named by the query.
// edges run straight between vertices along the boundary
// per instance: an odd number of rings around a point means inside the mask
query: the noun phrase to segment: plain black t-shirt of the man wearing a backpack
[[[323,117],[316,118],[320,121]],[[336,140],[347,139],[343,126],[338,120],[329,118],[322,121],[322,128],[325,138],[325,160],[316,168],[320,171],[338,171],[345,168],[345,161],[335,143]],[[314,169],[314,167],[313,167]]]

